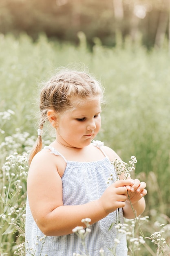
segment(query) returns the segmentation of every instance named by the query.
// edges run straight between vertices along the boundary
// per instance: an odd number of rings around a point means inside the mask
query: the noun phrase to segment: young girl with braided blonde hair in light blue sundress
[[[144,182],[125,180],[122,175],[107,184],[114,173],[110,162],[118,156],[93,141],[101,126],[102,97],[101,85],[84,72],[59,72],[42,89],[38,140],[27,180],[26,256],[73,256],[87,251],[89,256],[99,256],[101,248],[111,256],[117,231],[109,227],[116,222],[116,210],[121,222],[123,217],[135,217],[127,191],[137,215],[145,209]],[[46,120],[56,139],[42,149]],[[85,246],[72,231],[83,225],[84,218],[91,219]],[[126,235],[116,248],[117,256],[127,256]]]

